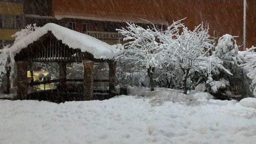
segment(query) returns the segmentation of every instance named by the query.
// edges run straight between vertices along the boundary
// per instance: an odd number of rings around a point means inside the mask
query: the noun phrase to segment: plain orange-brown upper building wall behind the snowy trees
[[[256,0],[247,0],[247,47],[256,45]],[[171,23],[186,18],[188,28],[208,22],[212,36],[239,36],[243,40],[243,0],[53,0],[56,18]]]

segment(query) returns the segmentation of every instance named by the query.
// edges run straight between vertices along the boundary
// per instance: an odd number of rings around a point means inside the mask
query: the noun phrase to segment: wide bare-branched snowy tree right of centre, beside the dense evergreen
[[[173,69],[182,75],[180,89],[183,89],[184,93],[206,81],[216,70],[223,69],[228,72],[222,66],[222,60],[208,56],[214,48],[214,40],[208,31],[208,25],[200,24],[192,31],[184,26],[182,33],[176,35],[175,41],[168,42],[163,39],[163,46],[167,47],[165,54],[169,60],[168,66],[174,67]]]

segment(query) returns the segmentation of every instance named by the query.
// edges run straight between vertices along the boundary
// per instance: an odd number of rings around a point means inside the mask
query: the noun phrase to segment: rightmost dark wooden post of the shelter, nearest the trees
[[[116,93],[116,63],[109,62],[109,94],[110,97],[115,96]]]

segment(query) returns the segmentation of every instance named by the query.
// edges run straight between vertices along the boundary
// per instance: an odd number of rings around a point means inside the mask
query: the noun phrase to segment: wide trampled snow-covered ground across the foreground
[[[0,144],[253,144],[256,109],[236,101],[121,96],[55,104],[0,100]]]

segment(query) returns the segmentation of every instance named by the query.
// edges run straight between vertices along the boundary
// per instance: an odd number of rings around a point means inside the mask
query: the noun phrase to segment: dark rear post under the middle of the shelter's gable
[[[59,63],[59,78],[61,90],[66,90],[67,86],[67,64],[65,62]]]

